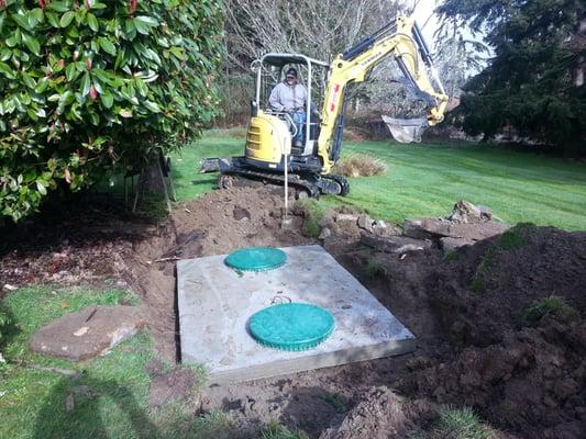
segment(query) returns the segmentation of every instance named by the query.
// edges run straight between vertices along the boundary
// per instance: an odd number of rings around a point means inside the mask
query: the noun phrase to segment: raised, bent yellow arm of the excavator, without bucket
[[[395,23],[339,55],[331,65],[318,139],[318,155],[323,162],[323,173],[329,173],[340,157],[347,85],[364,81],[368,72],[388,56],[392,56],[399,65],[407,86],[413,88],[418,98],[427,102],[427,125],[432,126],[443,121],[447,95],[428,46],[414,21],[399,16]]]

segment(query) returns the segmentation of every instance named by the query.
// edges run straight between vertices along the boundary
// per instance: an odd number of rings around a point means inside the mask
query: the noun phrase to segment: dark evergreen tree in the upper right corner
[[[581,0],[445,0],[443,18],[486,34],[495,56],[472,78],[456,122],[485,138],[520,136],[586,154],[585,4]]]

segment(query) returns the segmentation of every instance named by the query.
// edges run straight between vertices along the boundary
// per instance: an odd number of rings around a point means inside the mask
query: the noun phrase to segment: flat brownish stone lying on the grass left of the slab
[[[29,346],[37,353],[81,361],[107,353],[143,326],[135,306],[88,306],[42,327]]]

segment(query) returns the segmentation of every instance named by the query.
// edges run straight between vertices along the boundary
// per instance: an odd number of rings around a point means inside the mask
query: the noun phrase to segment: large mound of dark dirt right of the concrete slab
[[[474,407],[520,438],[583,437],[586,233],[519,225],[447,257],[431,249],[352,259],[384,266],[379,299],[419,337],[420,351],[394,383],[401,394]],[[523,317],[544,300],[565,311]]]

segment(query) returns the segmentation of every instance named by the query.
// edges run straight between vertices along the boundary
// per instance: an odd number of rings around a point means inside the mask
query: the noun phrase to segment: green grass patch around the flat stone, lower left
[[[31,335],[60,315],[89,305],[136,302],[124,291],[55,285],[10,293],[0,304],[10,318],[9,326],[0,328],[7,360],[0,363],[0,438],[233,437],[230,420],[221,413],[195,417],[174,402],[157,409],[148,407],[151,378],[145,365],[154,349],[146,333],[104,357],[80,363],[35,354],[27,348]],[[68,378],[38,368],[78,371],[80,375]],[[82,386],[90,392],[76,393]],[[69,412],[68,395],[74,395]]]

